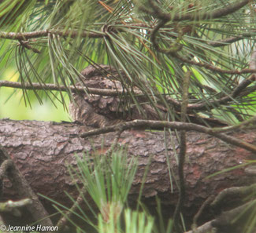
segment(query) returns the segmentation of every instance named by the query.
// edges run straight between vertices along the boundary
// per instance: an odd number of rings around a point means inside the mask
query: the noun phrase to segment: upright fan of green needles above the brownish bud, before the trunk
[[[78,160],[80,180],[103,213],[109,203],[115,203],[120,211],[135,176],[135,159],[128,162],[124,151],[114,153],[111,158],[95,155],[93,163],[88,158]]]

